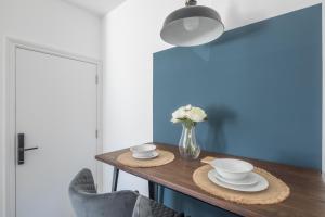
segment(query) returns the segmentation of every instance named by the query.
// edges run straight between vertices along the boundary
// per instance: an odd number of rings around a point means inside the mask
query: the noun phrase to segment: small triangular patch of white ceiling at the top
[[[105,15],[108,11],[115,9],[126,0],[64,0],[79,8],[86,9],[100,16]]]

